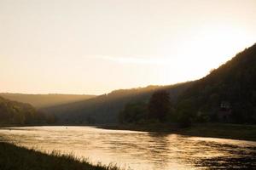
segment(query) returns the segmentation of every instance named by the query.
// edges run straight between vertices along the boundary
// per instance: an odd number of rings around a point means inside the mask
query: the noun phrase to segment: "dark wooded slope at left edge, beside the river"
[[[45,115],[32,105],[0,97],[0,125],[30,125],[55,122],[55,116]]]

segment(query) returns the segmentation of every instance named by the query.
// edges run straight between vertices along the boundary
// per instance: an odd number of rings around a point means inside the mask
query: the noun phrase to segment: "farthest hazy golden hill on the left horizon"
[[[22,103],[28,103],[36,108],[63,105],[84,99],[94,98],[95,95],[76,94],[0,94],[5,99],[11,99]]]

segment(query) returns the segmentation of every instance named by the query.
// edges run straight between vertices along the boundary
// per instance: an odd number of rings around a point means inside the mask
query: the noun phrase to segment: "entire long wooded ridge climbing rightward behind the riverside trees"
[[[147,103],[160,89],[170,94],[174,122],[183,117],[191,122],[256,123],[256,44],[194,82],[116,90],[44,111],[65,123],[118,122],[125,105]]]

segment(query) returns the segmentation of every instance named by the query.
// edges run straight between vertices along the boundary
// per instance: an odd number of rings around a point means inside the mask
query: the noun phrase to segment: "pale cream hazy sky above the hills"
[[[254,42],[255,0],[0,0],[0,91],[184,82]]]

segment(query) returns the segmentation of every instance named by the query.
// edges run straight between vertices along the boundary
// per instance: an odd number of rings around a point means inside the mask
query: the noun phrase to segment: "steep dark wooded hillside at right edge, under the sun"
[[[178,103],[204,121],[256,123],[256,44],[195,81]]]

